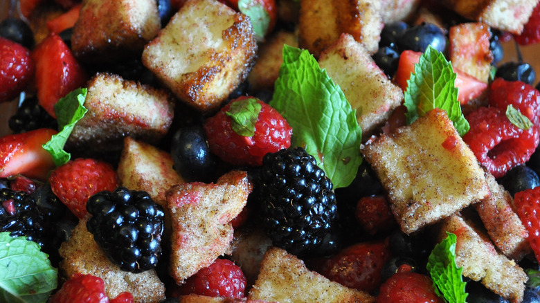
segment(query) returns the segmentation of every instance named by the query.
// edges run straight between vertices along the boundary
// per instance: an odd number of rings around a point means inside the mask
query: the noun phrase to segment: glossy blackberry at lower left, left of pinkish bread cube
[[[98,192],[88,199],[87,210],[89,232],[120,269],[141,273],[156,266],[165,214],[147,192],[125,187]]]

